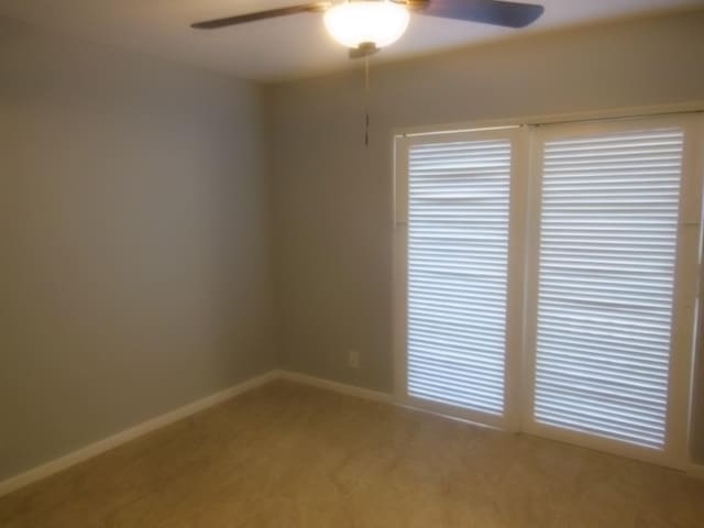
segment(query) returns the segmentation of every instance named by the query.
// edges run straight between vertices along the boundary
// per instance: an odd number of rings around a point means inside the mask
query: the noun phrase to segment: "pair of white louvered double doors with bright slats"
[[[674,464],[701,129],[680,116],[399,138],[397,397]]]

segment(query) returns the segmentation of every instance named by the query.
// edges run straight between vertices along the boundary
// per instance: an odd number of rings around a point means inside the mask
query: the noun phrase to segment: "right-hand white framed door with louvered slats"
[[[691,341],[675,337],[691,336],[686,253],[700,221],[701,175],[686,166],[694,125],[676,117],[534,133],[526,430],[652,460],[675,449],[691,360]]]

